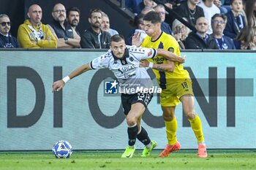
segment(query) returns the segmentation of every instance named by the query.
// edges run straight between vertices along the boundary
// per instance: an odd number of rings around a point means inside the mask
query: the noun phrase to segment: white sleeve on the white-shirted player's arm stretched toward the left
[[[94,60],[92,60],[89,65],[90,65],[91,69],[108,68],[108,66],[109,66],[109,57],[108,57],[107,54],[100,55],[98,58],[94,58]]]

